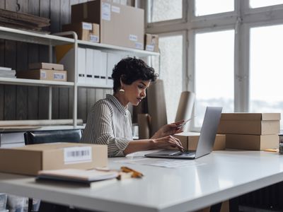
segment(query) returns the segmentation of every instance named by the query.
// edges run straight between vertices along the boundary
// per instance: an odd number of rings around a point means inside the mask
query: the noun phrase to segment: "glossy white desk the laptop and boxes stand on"
[[[59,183],[35,183],[33,177],[0,174],[0,192],[30,196],[98,211],[194,211],[275,184],[283,179],[283,155],[259,151],[216,151],[180,169],[127,165],[142,179],[89,189]]]

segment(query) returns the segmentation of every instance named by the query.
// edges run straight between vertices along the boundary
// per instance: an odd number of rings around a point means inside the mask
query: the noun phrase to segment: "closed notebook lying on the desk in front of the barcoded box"
[[[62,170],[42,170],[38,172],[37,179],[52,179],[65,182],[79,182],[91,185],[91,182],[112,179],[118,176],[115,171],[101,170],[79,170],[79,169],[62,169]]]

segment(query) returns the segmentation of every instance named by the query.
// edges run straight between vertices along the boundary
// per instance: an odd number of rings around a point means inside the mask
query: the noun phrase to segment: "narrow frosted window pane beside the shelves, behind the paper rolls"
[[[183,35],[159,37],[161,50],[160,78],[163,80],[168,123],[175,121],[183,76]],[[158,57],[153,57],[158,71]]]

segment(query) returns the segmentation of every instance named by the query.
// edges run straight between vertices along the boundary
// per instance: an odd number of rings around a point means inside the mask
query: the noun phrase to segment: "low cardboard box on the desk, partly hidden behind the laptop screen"
[[[180,140],[185,150],[195,151],[197,149],[197,143],[200,138],[200,133],[195,132],[183,132],[180,134],[175,134],[174,137]],[[226,136],[217,134],[213,150],[214,151],[221,151],[224,150],[226,147]]]

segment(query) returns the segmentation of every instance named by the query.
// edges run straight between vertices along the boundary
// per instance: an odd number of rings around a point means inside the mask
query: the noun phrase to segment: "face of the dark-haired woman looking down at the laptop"
[[[139,102],[146,97],[146,88],[149,88],[151,81],[134,81],[131,85],[123,85],[125,97],[132,105],[139,105]]]

